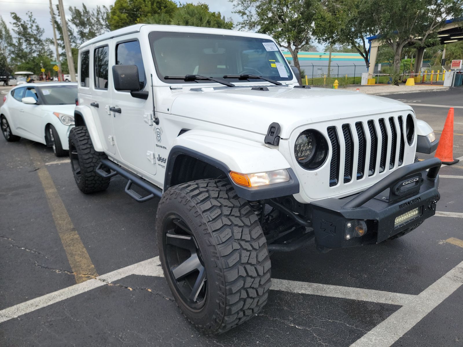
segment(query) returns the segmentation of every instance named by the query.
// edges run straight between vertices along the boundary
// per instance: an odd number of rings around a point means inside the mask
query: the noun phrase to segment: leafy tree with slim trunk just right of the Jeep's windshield
[[[319,5],[319,0],[234,0],[235,12],[242,18],[239,27],[271,35],[291,53],[298,70],[297,54],[310,42]]]

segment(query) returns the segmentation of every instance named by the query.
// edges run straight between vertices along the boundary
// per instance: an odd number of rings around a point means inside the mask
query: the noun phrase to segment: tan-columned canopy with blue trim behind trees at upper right
[[[463,41],[463,18],[447,19],[445,25],[438,30],[438,38],[440,43],[434,44],[438,46],[440,44],[453,43]],[[378,48],[383,44],[381,40],[381,34],[367,37],[370,44],[369,47],[369,63],[368,74],[371,76],[375,70],[376,56],[378,55]],[[428,46],[431,47],[431,46]],[[423,62],[423,55],[426,47],[417,48],[417,54],[415,59],[414,73],[418,73]]]

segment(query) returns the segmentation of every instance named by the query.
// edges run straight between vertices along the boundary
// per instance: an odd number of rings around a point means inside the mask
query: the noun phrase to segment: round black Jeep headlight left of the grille
[[[305,130],[294,143],[294,157],[299,165],[307,170],[321,167],[328,156],[328,143],[325,136],[317,130]]]

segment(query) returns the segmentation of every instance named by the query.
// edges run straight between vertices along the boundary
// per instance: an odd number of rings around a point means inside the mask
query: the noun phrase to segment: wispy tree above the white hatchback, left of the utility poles
[[[24,64],[41,56],[51,56],[51,50],[47,41],[44,39],[44,29],[42,29],[32,12],[27,12],[27,19],[23,20],[15,12],[11,12],[13,18],[13,44],[12,61],[15,64]],[[36,66],[36,65],[34,65]],[[40,71],[40,67],[38,68]],[[34,69],[37,72],[37,69]]]

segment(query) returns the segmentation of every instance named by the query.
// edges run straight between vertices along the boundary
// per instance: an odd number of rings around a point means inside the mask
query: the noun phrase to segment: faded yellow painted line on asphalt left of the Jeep
[[[59,197],[56,186],[51,179],[50,173],[40,158],[38,152],[29,147],[29,154],[37,170],[38,177],[45,191],[48,205],[50,206],[51,215],[55,221],[58,235],[63,243],[64,251],[69,260],[72,272],[75,275],[75,281],[81,283],[87,279],[92,279],[98,276],[95,266],[90,259],[90,256],[85,249],[79,234],[74,228],[74,224],[69,217],[63,200]]]

